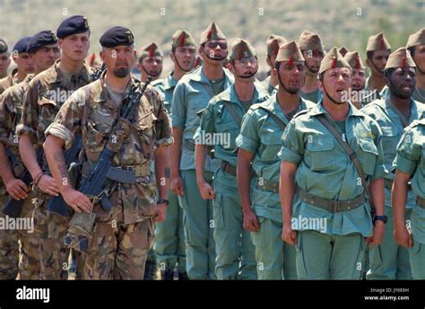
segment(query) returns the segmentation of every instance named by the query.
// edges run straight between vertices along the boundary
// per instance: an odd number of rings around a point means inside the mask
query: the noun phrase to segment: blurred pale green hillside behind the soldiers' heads
[[[134,32],[138,49],[155,41],[166,55],[174,31],[184,28],[198,41],[214,21],[230,41],[251,41],[265,70],[270,33],[298,40],[304,29],[317,31],[325,49],[344,45],[364,56],[369,35],[383,31],[395,50],[425,27],[425,0],[0,0],[0,38],[13,46],[22,36],[56,31],[73,14],[89,18],[91,51],[100,50],[103,31],[122,25]],[[170,67],[166,57],[163,75]]]

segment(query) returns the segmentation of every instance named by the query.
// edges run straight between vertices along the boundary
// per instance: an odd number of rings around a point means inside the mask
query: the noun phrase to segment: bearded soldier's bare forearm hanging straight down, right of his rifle
[[[168,199],[169,146],[160,145],[155,151],[155,178],[160,199]]]

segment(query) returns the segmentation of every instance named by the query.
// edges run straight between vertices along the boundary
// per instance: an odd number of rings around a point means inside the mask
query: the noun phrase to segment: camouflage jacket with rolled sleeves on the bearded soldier
[[[140,82],[132,79],[123,95],[123,103],[117,107],[108,95],[104,75],[100,80],[75,92],[56,115],[46,130],[65,141],[65,149],[73,146],[74,136],[81,135],[84,153],[92,166],[108,143],[110,132],[119,119],[122,105],[134,87]],[[146,89],[140,105],[131,114],[131,126],[124,143],[113,157],[115,166],[150,164],[156,148],[173,142],[169,114],[160,94],[151,86]],[[111,213],[95,205],[98,220],[108,220],[117,214],[126,224],[140,222],[152,217],[155,205],[155,184],[149,176],[137,177],[134,184],[119,183],[117,200]]]

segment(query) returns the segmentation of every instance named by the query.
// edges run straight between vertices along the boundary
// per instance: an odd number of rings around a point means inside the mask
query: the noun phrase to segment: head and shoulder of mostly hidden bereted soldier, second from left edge
[[[10,75],[0,79],[0,94],[7,88],[13,86],[13,84],[21,83],[26,75],[34,73],[34,63],[27,53],[30,39],[31,37],[22,38],[13,46],[12,57],[17,67],[13,69]]]

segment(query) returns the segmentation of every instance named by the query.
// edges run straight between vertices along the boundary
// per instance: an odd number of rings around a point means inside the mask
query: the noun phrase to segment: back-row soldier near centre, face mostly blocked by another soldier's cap
[[[273,75],[274,63],[276,62],[276,56],[279,51],[279,47],[286,43],[287,40],[280,35],[270,34],[265,42],[267,46],[267,65],[270,66],[270,75],[265,78],[261,85],[265,89],[265,91],[269,94],[274,93],[279,86],[279,79],[276,75]]]

